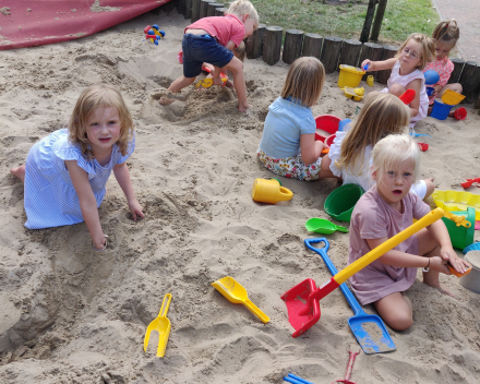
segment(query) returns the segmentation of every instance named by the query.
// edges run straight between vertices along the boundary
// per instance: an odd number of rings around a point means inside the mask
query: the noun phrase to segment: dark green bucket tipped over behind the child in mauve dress
[[[326,197],[324,209],[338,221],[350,221],[355,205],[363,193],[357,184],[344,184]]]

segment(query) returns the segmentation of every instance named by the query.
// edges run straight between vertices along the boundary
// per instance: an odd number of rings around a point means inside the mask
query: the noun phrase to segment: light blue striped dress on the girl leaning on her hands
[[[129,143],[122,156],[113,145],[110,163],[100,166],[96,159],[87,160],[79,145],[69,143],[67,129],[50,133],[28,152],[25,165],[25,212],[28,229],[67,226],[83,221],[79,195],[73,188],[65,160],[76,160],[88,175],[88,182],[97,202],[104,200],[107,180],[115,165],[125,161],[133,153],[135,140]]]

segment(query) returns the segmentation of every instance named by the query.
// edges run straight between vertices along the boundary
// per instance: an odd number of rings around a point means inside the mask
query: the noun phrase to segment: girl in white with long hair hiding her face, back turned
[[[388,93],[369,97],[357,120],[336,133],[329,153],[322,158],[320,178],[337,177],[368,191],[375,184],[370,177],[372,148],[382,137],[407,133],[409,120],[408,107],[398,97]],[[411,185],[420,199],[430,196],[434,189],[432,178]]]

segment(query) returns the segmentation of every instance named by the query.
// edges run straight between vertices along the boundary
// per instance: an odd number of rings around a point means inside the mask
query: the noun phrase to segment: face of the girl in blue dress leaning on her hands
[[[120,116],[115,107],[97,108],[87,120],[86,134],[92,149],[105,151],[120,139]]]

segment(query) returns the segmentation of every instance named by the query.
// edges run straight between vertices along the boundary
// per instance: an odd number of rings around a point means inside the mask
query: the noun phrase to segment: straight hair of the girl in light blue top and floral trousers
[[[319,59],[299,58],[288,69],[281,98],[291,96],[301,100],[303,106],[311,107],[319,99],[324,82],[325,69]]]

